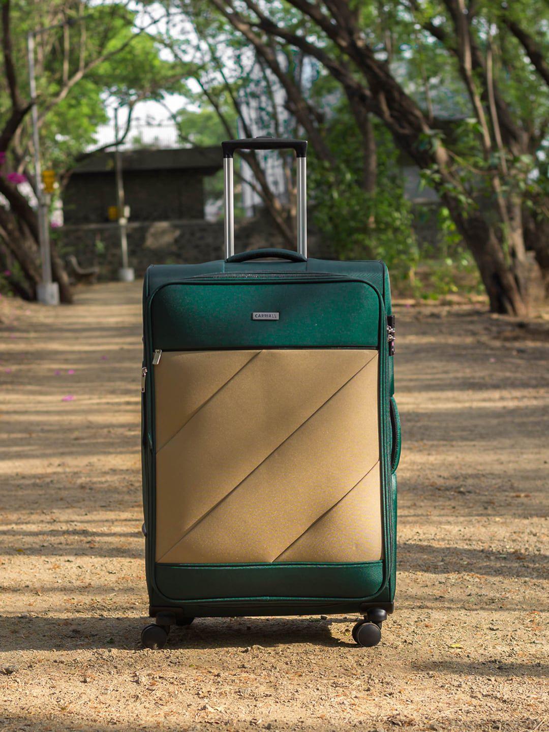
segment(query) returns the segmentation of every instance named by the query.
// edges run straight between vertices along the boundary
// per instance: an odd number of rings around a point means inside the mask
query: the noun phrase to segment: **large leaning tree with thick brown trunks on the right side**
[[[268,57],[290,46],[316,59],[345,91],[356,119],[370,113],[380,119],[449,209],[491,310],[529,311],[533,275],[548,275],[546,236],[539,244],[548,217],[538,157],[549,122],[542,0],[209,5],[258,53]],[[437,75],[449,77],[466,116],[437,117]],[[321,145],[311,143],[318,152]],[[534,259],[526,251],[533,239]]]

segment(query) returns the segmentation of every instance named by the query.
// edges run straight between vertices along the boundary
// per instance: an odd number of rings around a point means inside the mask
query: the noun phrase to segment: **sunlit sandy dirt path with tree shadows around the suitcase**
[[[399,310],[400,574],[380,646],[316,616],[198,620],[145,651],[139,286],[2,302],[2,730],[549,728],[542,326]]]

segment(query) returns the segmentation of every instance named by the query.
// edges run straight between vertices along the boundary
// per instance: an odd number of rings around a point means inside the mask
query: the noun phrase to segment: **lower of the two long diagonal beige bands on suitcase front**
[[[165,562],[273,561],[378,460],[377,358],[195,522]],[[379,512],[378,512],[379,515]],[[294,559],[299,561],[299,559]]]

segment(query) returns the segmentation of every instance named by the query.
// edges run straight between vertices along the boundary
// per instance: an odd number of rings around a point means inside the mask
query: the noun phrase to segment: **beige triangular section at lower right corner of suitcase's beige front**
[[[378,561],[381,552],[381,475],[376,463],[275,561]]]

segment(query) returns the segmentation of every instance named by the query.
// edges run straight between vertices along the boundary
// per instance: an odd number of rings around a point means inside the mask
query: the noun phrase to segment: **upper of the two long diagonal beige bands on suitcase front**
[[[211,356],[204,367],[217,378],[231,353]],[[191,356],[189,361],[194,362]],[[375,351],[273,349],[231,379],[157,455],[157,556],[165,556],[184,531],[367,362],[376,370]],[[162,381],[155,382],[163,389]],[[182,378],[179,389],[192,390],[193,382]],[[171,399],[177,408],[178,395]]]

